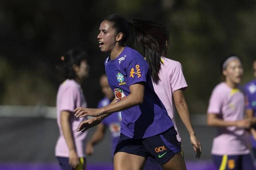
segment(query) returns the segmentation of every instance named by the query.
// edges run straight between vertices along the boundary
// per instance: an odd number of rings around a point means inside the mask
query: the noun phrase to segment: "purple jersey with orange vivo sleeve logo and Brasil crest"
[[[130,85],[139,82],[145,85],[143,103],[121,112],[121,133],[141,139],[162,133],[173,126],[163,103],[154,92],[148,63],[138,51],[125,47],[114,60],[110,57],[106,59],[105,69],[117,101],[130,94]]]

